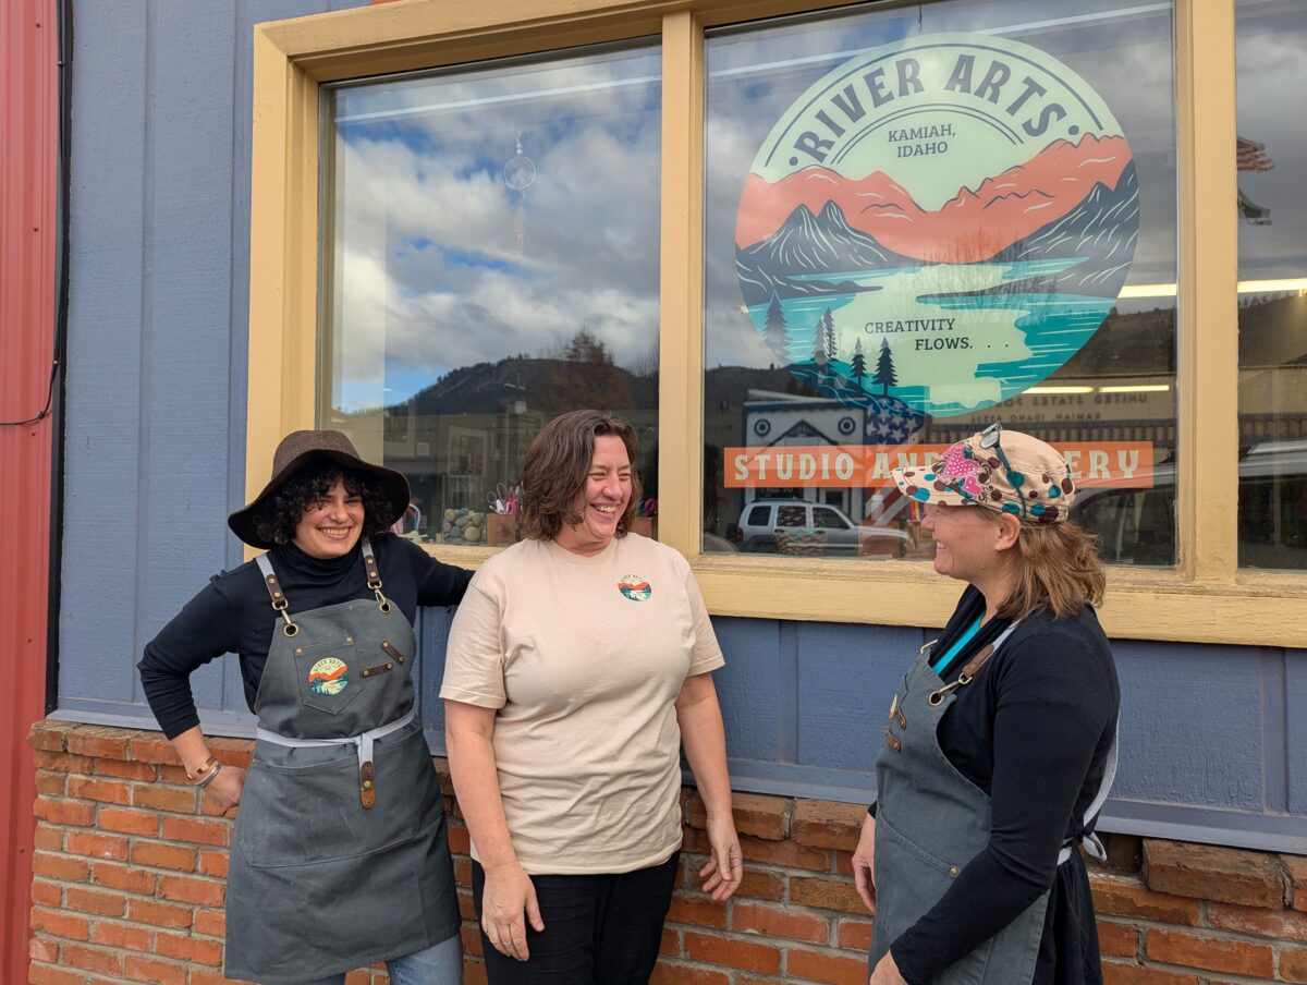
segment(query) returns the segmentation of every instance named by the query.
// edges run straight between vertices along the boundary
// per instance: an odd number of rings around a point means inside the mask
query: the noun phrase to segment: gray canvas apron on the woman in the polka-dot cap
[[[945,684],[921,648],[895,695],[885,746],[876,760],[876,920],[870,967],[948,892],[953,880],[989,841],[989,795],[962,776],[936,735],[944,713],[979,668],[1002,645],[1017,623],[983,648]],[[1116,773],[1116,740],[1098,797],[1078,825],[1089,828],[1107,799]],[[1082,842],[1095,858],[1106,857],[1090,832]],[[1061,865],[1073,846],[1063,846]],[[933,985],[1030,985],[1044,931],[1048,891],[1012,924],[971,954],[949,965]]]

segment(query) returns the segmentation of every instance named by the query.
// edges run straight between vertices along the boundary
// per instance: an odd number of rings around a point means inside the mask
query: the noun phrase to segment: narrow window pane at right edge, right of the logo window
[[[1235,5],[1239,564],[1307,568],[1307,9]]]

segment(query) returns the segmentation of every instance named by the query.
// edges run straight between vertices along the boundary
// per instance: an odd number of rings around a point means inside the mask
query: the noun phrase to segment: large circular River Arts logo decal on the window
[[[813,84],[754,157],[736,266],[813,392],[904,417],[989,407],[1098,331],[1138,234],[1120,124],[1057,59],[899,41]]]

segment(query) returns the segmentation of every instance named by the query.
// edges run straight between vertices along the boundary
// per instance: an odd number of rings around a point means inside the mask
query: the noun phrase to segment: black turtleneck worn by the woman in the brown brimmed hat
[[[472,578],[472,572],[442,564],[417,544],[393,534],[374,536],[372,551],[386,596],[410,623],[418,606],[456,606]],[[269,556],[291,615],[372,596],[359,547],[345,557],[322,560],[310,557],[294,544],[282,544]],[[246,704],[252,712],[276,623],[277,615],[254,561],[213,576],[145,645],[137,665],[145,697],[163,734],[171,739],[200,723],[190,676],[225,653],[240,658]]]

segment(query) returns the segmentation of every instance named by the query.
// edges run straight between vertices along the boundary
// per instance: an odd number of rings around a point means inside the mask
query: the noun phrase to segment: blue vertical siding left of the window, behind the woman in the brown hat
[[[74,4],[64,712],[140,719],[141,646],[242,560],[254,25],[362,1]],[[193,687],[247,718],[234,661]]]

